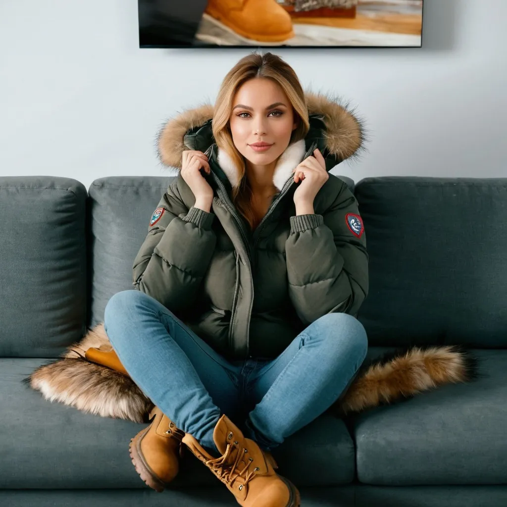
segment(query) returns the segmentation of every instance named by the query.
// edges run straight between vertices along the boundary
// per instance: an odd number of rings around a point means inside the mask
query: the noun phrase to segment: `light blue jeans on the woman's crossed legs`
[[[212,450],[222,414],[262,449],[278,446],[343,396],[368,348],[363,324],[346,313],[329,313],[274,359],[228,361],[136,289],[108,301],[104,329],[141,391]]]

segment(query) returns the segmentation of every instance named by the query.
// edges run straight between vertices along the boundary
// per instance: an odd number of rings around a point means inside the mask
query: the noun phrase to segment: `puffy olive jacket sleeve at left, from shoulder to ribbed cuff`
[[[171,185],[148,226],[133,265],[133,286],[171,311],[188,308],[216,244],[214,213],[188,209]]]

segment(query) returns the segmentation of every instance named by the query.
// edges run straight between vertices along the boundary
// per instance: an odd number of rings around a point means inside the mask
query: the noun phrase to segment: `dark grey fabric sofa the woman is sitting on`
[[[237,505],[191,453],[173,487],[144,484],[144,425],[50,403],[22,382],[102,321],[172,177],[0,177],[0,505]],[[482,378],[340,419],[273,455],[311,506],[507,505],[507,178],[369,177],[354,191],[370,255],[358,318],[369,358],[467,344]]]

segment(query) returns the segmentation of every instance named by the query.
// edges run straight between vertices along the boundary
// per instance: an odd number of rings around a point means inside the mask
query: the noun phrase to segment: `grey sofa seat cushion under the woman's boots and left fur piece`
[[[84,413],[45,400],[22,382],[51,359],[0,358],[0,489],[141,488],[129,442],[148,423]],[[334,486],[354,477],[344,422],[322,414],[276,450],[279,472],[298,486]],[[187,449],[174,487],[221,486]]]

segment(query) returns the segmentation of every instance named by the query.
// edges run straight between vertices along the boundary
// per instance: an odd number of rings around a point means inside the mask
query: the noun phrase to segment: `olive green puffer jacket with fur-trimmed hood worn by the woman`
[[[279,192],[253,232],[231,201],[238,170],[214,143],[212,106],[169,120],[159,134],[159,155],[168,166],[180,169],[184,150],[208,155],[211,174],[204,177],[213,203],[209,213],[193,207],[195,197],[178,174],[149,220],[133,286],[230,360],[274,358],[320,316],[357,316],[368,294],[366,235],[353,193],[330,174],[314,214],[296,215],[292,173],[315,148],[328,171],[353,156],[363,128],[334,99],[305,96],[311,128],[277,161]]]

